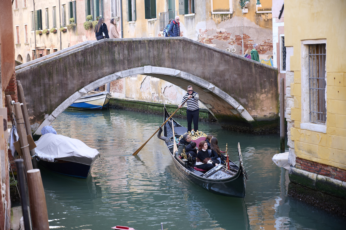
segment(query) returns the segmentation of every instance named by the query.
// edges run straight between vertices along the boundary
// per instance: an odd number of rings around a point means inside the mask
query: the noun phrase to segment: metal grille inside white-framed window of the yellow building
[[[310,122],[325,124],[326,108],[326,44],[309,45]]]

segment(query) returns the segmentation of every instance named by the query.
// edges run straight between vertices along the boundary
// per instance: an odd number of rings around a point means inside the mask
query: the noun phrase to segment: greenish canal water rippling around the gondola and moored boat
[[[271,160],[280,151],[279,135],[239,134],[199,122],[221,150],[228,143],[235,163],[240,142],[249,181],[245,199],[239,199],[188,181],[156,135],[132,156],[162,123],[158,115],[115,109],[60,114],[52,123],[58,134],[82,140],[101,156],[87,179],[41,169],[50,228],[159,230],[163,223],[167,230],[345,229],[345,219],[287,195],[288,172]]]

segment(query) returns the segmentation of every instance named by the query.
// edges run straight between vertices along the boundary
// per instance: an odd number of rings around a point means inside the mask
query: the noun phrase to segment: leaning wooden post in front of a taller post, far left
[[[20,148],[22,150],[22,154],[24,156],[24,163],[27,170],[33,169],[33,164],[31,163],[31,156],[29,151],[29,144],[26,135],[26,130],[24,127],[24,119],[23,114],[20,108],[20,103],[15,103],[15,113],[17,120],[17,130],[18,136],[20,140]]]

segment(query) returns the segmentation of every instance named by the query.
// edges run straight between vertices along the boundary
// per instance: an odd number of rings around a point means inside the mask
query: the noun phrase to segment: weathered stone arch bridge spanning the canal
[[[224,127],[278,125],[276,68],[184,37],[88,41],[16,68],[37,135],[80,96],[137,74],[191,84]]]

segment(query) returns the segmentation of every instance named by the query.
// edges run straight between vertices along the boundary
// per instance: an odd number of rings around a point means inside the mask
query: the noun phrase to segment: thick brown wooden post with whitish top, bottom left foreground
[[[27,171],[31,223],[33,230],[49,230],[48,212],[39,169]]]

